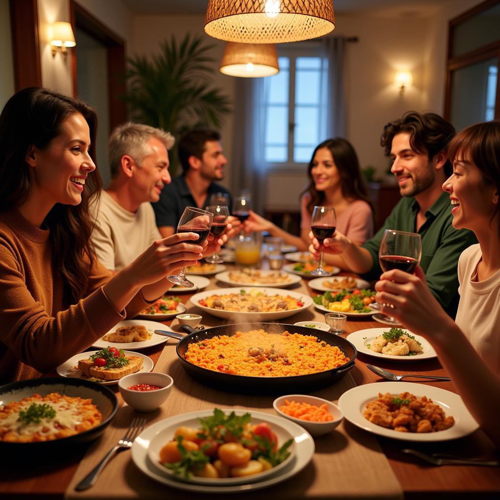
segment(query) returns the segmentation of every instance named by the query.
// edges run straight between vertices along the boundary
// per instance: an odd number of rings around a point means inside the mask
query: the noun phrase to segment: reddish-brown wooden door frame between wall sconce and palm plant
[[[105,26],[99,19],[85,10],[74,0],[69,1],[69,15],[73,32],[82,29],[107,48],[107,80],[109,95],[109,132],[126,121],[126,104],[120,95],[126,92],[125,73],[125,41],[114,31]],[[73,62],[73,93],[77,95],[76,51],[71,51]]]

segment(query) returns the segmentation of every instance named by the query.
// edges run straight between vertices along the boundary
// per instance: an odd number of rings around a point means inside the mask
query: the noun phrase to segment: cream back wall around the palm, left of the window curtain
[[[208,55],[214,59],[213,65],[216,70],[212,80],[213,86],[220,88],[232,101],[234,100],[234,77],[224,75],[218,71],[225,42],[204,34],[203,24],[204,16],[202,15],[134,16],[130,52],[140,55],[154,54],[160,50],[159,43],[170,39],[172,35],[177,39],[181,39],[188,32],[202,34],[205,43],[213,46],[208,52]],[[233,116],[229,114],[225,117],[223,125],[219,130],[222,135],[220,142],[224,149],[224,154],[229,160],[229,164],[225,168],[224,180],[221,182],[226,187],[230,185],[231,168],[237,167],[237,165],[231,165],[233,128],[235,126]]]

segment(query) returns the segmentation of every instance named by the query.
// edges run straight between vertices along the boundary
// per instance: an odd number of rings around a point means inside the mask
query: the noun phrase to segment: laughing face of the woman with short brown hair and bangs
[[[496,187],[484,181],[481,171],[470,160],[453,161],[453,173],[442,188],[449,193],[453,227],[472,231],[489,226],[498,202]]]

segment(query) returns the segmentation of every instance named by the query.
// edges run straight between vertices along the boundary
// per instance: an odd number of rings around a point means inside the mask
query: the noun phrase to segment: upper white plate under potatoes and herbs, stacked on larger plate
[[[226,409],[223,410],[226,414],[229,414],[232,409]],[[246,413],[244,410],[239,410],[240,414]],[[182,477],[177,477],[175,474],[170,470],[167,469],[165,466],[163,466],[160,463],[159,455],[161,448],[168,442],[171,441],[174,438],[174,433],[177,430],[177,428],[182,425],[183,427],[190,427],[194,429],[199,429],[199,421],[198,421],[198,411],[193,413],[184,413],[181,416],[181,420],[179,421],[178,418],[173,417],[173,418],[167,418],[166,420],[169,421],[169,424],[166,424],[165,422],[165,427],[160,430],[154,437],[151,439],[151,442],[149,443],[149,448],[147,451],[147,455],[149,457],[149,460],[151,464],[153,465],[154,470],[165,476],[165,477],[170,477],[172,479],[176,479],[179,481],[184,481],[188,482],[190,484],[206,484],[213,486],[213,479],[210,479],[208,477],[196,477],[193,476],[191,479],[185,479]],[[209,416],[213,415],[212,412],[207,412]],[[267,422],[267,420],[263,420],[262,418],[259,418],[258,416],[255,416],[253,413],[259,413],[259,412],[252,412],[252,418],[251,418],[251,423],[252,424],[259,424],[262,422]],[[263,414],[263,413],[259,413]],[[164,420],[165,421],[165,420]],[[278,448],[283,445],[286,441],[289,439],[292,439],[293,442],[291,445],[288,447],[288,451],[290,454],[288,457],[283,460],[280,464],[276,465],[275,467],[272,467],[268,470],[262,471],[258,474],[251,474],[246,477],[224,477],[220,478],[217,480],[217,483],[220,486],[230,486],[234,484],[248,484],[252,482],[259,482],[263,481],[264,479],[268,478],[271,475],[277,475],[279,471],[283,468],[285,468],[289,462],[295,459],[295,453],[296,453],[296,446],[295,446],[295,441],[293,439],[293,436],[286,430],[284,429],[281,425],[278,424],[272,424],[272,430],[276,433],[277,440],[278,440]]]

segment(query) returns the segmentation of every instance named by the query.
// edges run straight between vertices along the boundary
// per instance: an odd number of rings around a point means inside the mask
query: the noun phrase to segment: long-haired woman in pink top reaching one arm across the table
[[[250,210],[245,231],[268,231],[299,250],[309,246],[314,206],[335,207],[337,229],[360,244],[373,235],[373,212],[354,148],[345,139],[327,139],[312,153],[309,185],[302,192],[300,236],[294,236]]]

